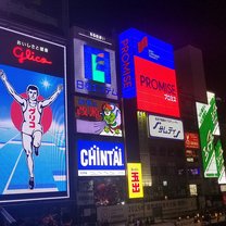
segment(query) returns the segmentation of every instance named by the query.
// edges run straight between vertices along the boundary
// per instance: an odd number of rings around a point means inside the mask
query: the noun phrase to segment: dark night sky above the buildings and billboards
[[[226,98],[225,0],[70,0],[71,23],[111,36],[135,27],[174,46],[202,50],[210,91]]]

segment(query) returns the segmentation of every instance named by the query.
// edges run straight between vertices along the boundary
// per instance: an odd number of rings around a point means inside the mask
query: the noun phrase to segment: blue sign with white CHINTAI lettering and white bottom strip
[[[77,141],[78,176],[124,176],[122,142]]]

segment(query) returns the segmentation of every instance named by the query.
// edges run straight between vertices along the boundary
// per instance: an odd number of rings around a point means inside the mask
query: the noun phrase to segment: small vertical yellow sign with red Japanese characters
[[[143,198],[141,163],[127,163],[128,197]]]

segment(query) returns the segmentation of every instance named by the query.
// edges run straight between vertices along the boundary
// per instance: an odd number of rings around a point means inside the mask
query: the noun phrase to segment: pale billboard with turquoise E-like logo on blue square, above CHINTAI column
[[[74,38],[75,91],[117,100],[115,51]]]

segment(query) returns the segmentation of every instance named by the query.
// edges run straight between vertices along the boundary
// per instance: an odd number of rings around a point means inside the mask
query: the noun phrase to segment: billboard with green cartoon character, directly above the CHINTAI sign
[[[122,137],[117,103],[75,97],[75,117],[77,133]]]

